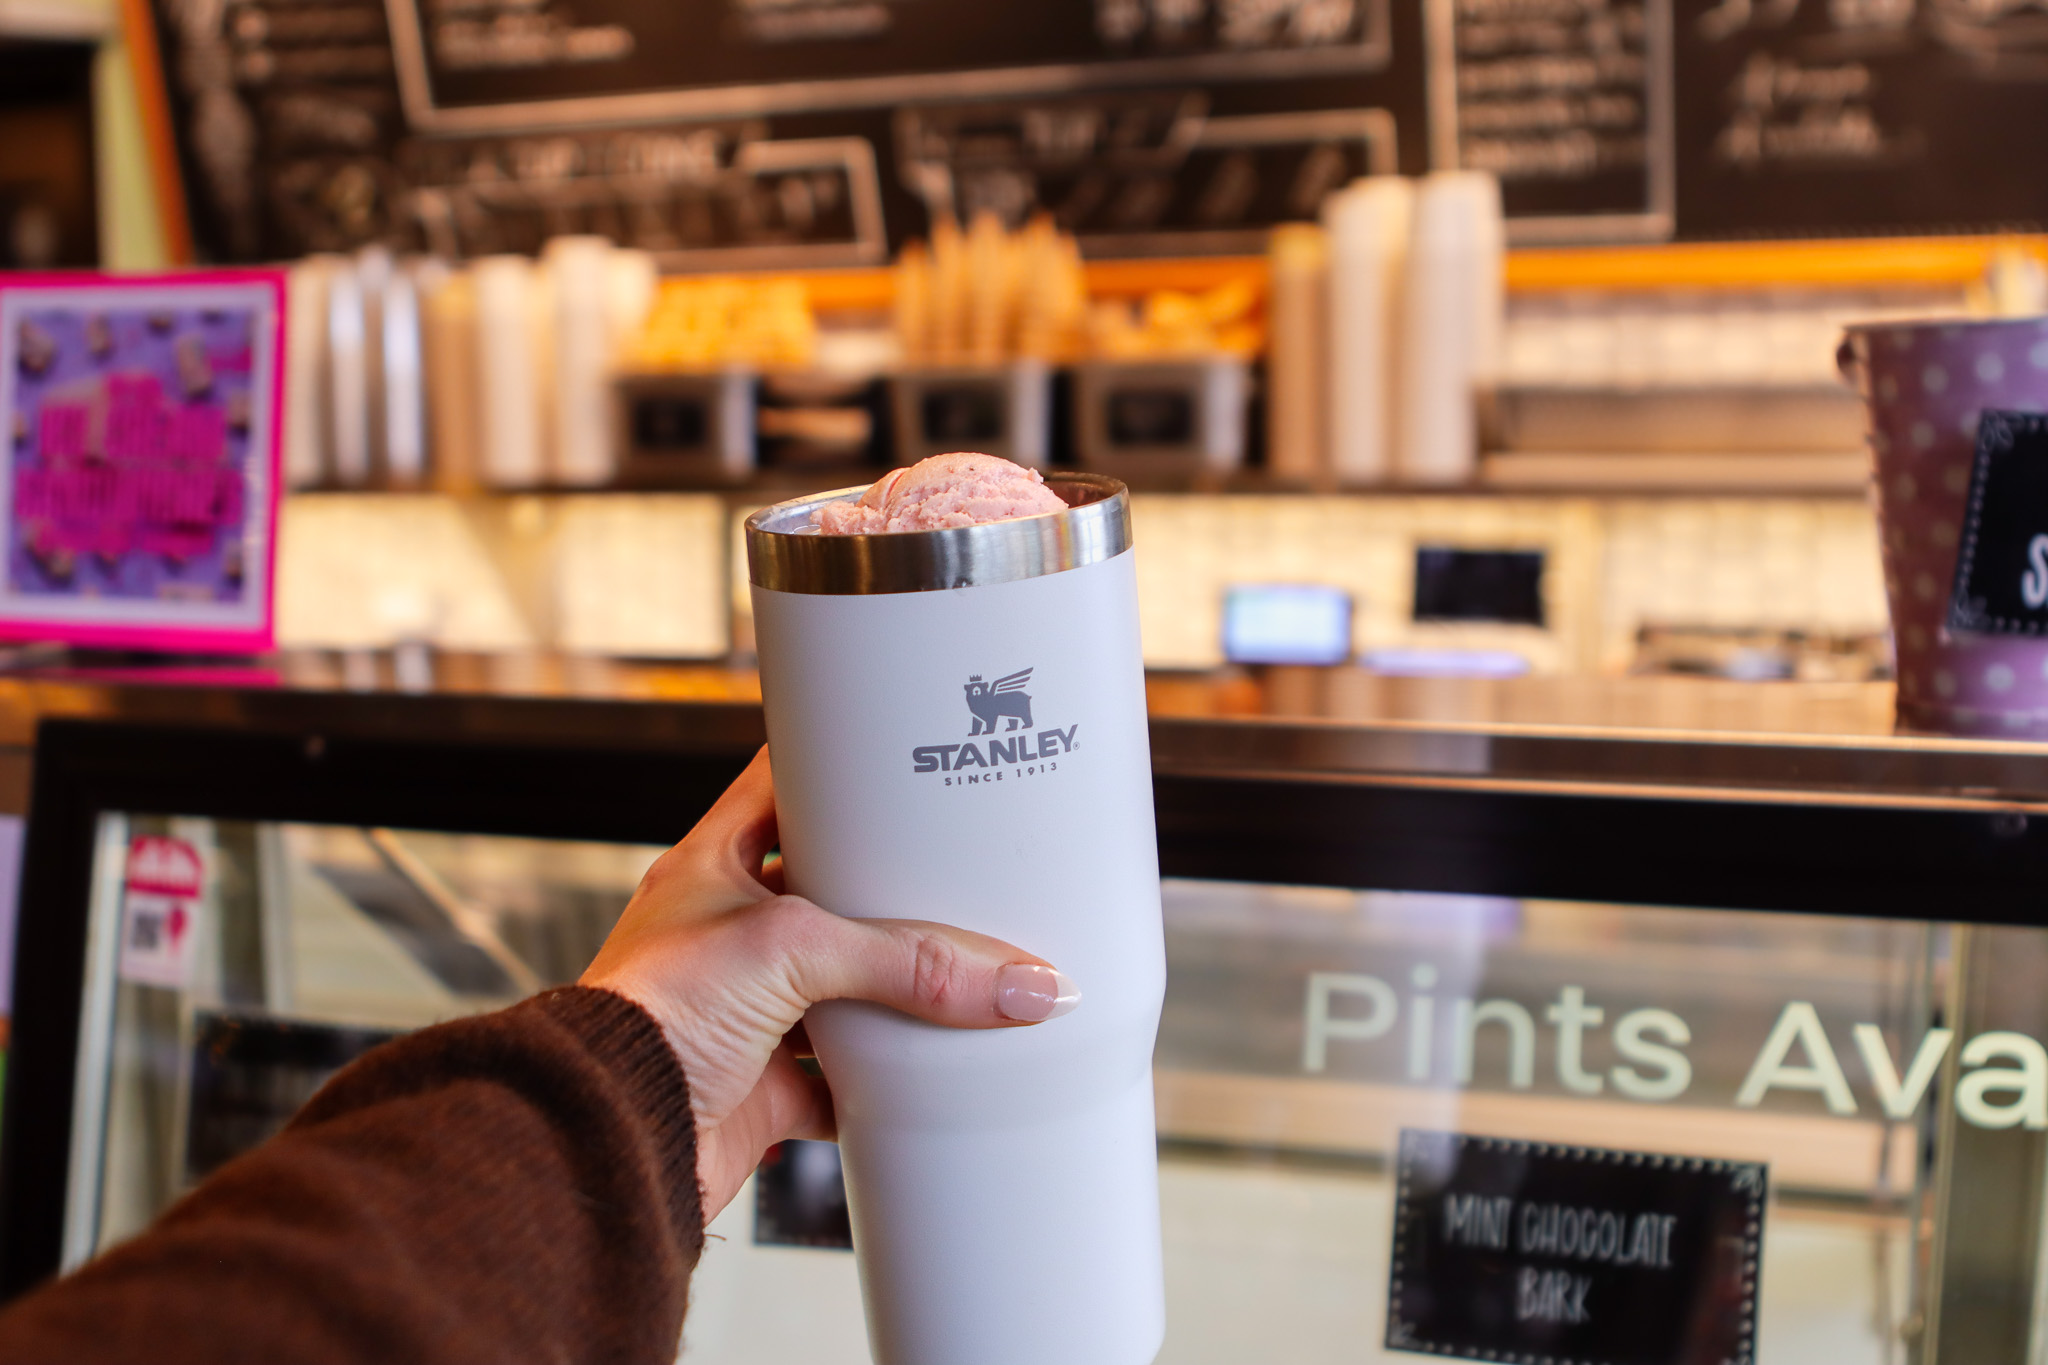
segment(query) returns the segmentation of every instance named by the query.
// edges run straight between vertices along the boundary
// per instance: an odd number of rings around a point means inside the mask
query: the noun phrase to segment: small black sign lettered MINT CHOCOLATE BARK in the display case
[[[1751,1365],[1765,1169],[1401,1130],[1386,1347]]]

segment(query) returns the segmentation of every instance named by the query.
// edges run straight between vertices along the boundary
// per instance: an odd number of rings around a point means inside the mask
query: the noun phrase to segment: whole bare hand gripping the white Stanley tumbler
[[[1042,1023],[1079,1005],[1044,958],[967,929],[842,919],[782,894],[768,751],[655,860],[582,984],[662,1025],[690,1081],[711,1220],[784,1138],[831,1138],[831,1091],[797,1064],[817,1001],[874,1001],[956,1029]]]

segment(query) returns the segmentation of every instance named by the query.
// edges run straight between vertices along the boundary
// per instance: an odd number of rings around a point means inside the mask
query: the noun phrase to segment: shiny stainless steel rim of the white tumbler
[[[811,514],[866,485],[762,508],[748,518],[748,577],[793,593],[903,593],[1016,583],[1083,569],[1130,548],[1130,491],[1118,479],[1061,471],[1047,487],[1065,512],[952,530],[823,536]]]

